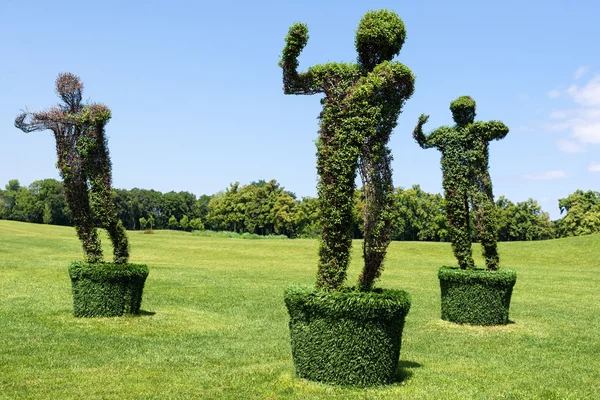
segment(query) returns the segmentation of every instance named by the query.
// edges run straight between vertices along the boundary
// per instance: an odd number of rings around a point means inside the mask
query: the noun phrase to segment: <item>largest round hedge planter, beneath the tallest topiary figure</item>
[[[297,376],[355,386],[394,380],[410,309],[408,293],[290,286],[284,299]]]

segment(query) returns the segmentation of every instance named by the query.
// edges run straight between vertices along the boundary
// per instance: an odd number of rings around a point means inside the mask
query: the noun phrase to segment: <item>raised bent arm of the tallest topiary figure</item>
[[[322,92],[314,74],[309,69],[307,72],[298,73],[298,56],[308,41],[308,27],[306,24],[295,23],[285,37],[285,47],[279,61],[283,70],[283,92],[285,94],[314,94]]]

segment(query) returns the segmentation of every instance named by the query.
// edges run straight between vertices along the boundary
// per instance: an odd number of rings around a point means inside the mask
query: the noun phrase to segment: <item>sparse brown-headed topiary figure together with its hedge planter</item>
[[[56,92],[62,103],[41,112],[21,113],[15,120],[15,126],[24,132],[51,130],[56,140],[57,166],[64,181],[67,203],[73,215],[73,223],[81,240],[85,263],[74,263],[69,271],[73,279],[76,316],[110,316],[123,312],[138,312],[141,302],[139,294],[131,293],[121,287],[118,293],[123,297],[134,298],[137,305],[127,301],[111,300],[111,306],[102,300],[98,293],[92,293],[90,283],[98,279],[119,281],[127,286],[135,280],[136,287],[141,285],[148,274],[147,267],[127,264],[129,244],[122,222],[117,217],[112,200],[111,163],[104,128],[111,118],[111,112],[104,104],[86,104],[82,102],[83,83],[71,73],[61,73],[56,79]],[[98,218],[107,230],[113,244],[114,265],[103,262],[103,253],[94,225]],[[95,267],[94,267],[95,266]],[[101,272],[98,272],[102,270]],[[141,274],[141,275],[140,275]],[[138,276],[139,275],[139,276]],[[90,278],[91,281],[88,279]],[[92,279],[93,278],[93,279]],[[83,282],[82,279],[87,283]],[[96,282],[98,283],[98,282]],[[110,286],[110,285],[109,285]],[[114,285],[113,285],[114,286]],[[110,292],[106,282],[99,283],[98,291]],[[111,292],[115,296],[116,292]],[[77,298],[94,297],[96,305],[81,306]],[[119,295],[116,295],[119,297]],[[85,300],[85,299],[84,299]]]

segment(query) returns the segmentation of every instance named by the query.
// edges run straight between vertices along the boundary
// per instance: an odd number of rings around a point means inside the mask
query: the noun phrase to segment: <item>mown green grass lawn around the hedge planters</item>
[[[294,377],[283,289],[314,281],[316,240],[129,237],[131,262],[150,267],[143,315],[76,319],[74,229],[0,221],[0,398],[600,398],[600,235],[501,243],[514,323],[492,328],[440,320],[449,244],[392,243],[379,286],[413,305],[400,380],[373,389]],[[356,242],[350,283],[361,261]]]

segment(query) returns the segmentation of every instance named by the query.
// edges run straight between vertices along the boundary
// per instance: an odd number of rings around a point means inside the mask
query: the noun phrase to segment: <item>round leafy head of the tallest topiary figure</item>
[[[372,70],[383,61],[389,61],[400,53],[406,38],[404,23],[393,11],[368,11],[356,30],[358,64]]]

